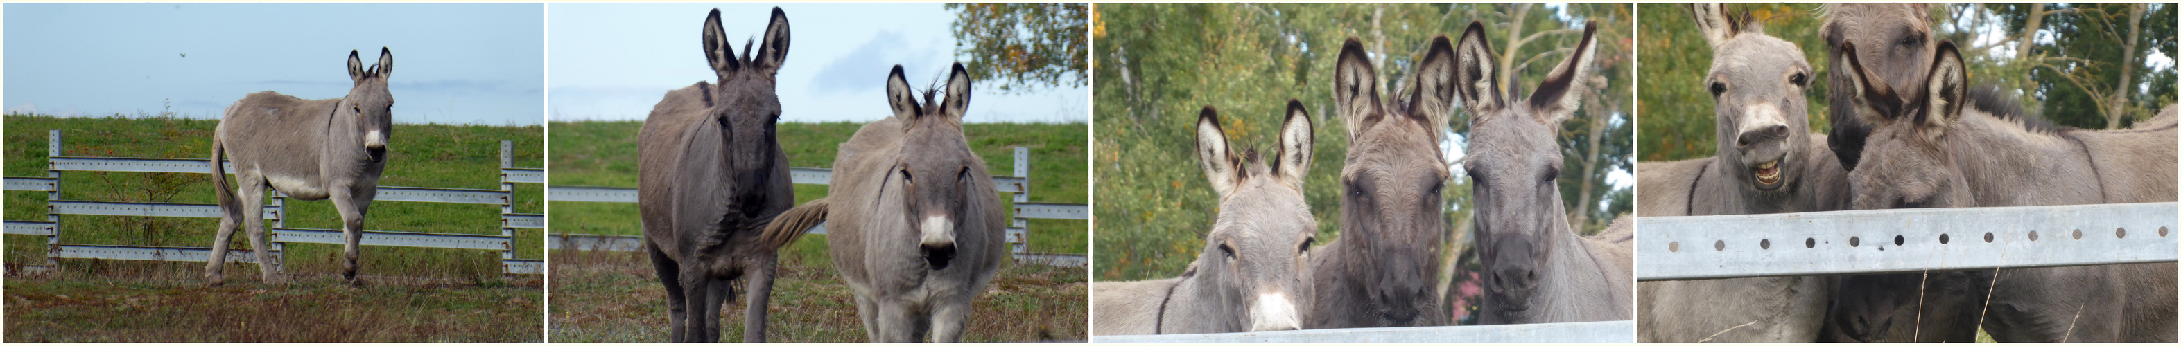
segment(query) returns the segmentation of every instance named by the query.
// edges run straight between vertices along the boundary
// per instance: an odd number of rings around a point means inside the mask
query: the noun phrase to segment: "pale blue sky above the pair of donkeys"
[[[713,81],[704,65],[704,13],[742,54],[763,39],[772,7],[790,22],[776,91],[781,122],[870,122],[890,115],[885,72],[896,63],[916,87],[955,61],[953,11],[944,4],[545,4],[547,118],[643,120],[670,89]],[[977,85],[964,122],[1088,122],[1088,87],[999,94]]]

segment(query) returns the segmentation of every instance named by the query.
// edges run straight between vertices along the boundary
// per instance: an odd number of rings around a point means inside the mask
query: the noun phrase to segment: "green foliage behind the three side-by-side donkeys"
[[[1627,26],[1631,17],[1623,4],[1573,4],[1568,15],[1599,20],[1601,26],[1601,72],[1610,81],[1603,91],[1586,102],[1583,111],[1568,122],[1573,131],[1564,144],[1568,157],[1588,152],[1583,135],[1596,118],[1605,120],[1607,139],[1601,150],[1620,161],[1601,159],[1601,168],[1590,176],[1590,200],[1579,200],[1581,165],[1566,165],[1562,176],[1564,200],[1601,205],[1610,185],[1603,176],[1614,168],[1627,170],[1625,135],[1627,111],[1612,107],[1627,104]],[[1093,268],[1099,279],[1132,281],[1176,276],[1182,265],[1195,259],[1204,244],[1204,231],[1213,224],[1217,196],[1204,183],[1204,174],[1189,150],[1195,146],[1195,115],[1200,107],[1217,107],[1228,137],[1237,148],[1269,148],[1276,128],[1285,118],[1285,100],[1302,100],[1317,124],[1315,163],[1304,178],[1304,198],[1320,222],[1320,239],[1328,242],[1339,231],[1339,183],[1337,174],[1348,148],[1348,128],[1333,113],[1330,78],[1341,39],[1357,37],[1374,52],[1381,74],[1381,98],[1407,96],[1400,91],[1409,83],[1407,74],[1422,59],[1422,50],[1435,35],[1459,35],[1470,20],[1487,22],[1494,50],[1503,50],[1503,61],[1516,67],[1522,81],[1540,81],[1555,63],[1566,59],[1566,50],[1581,39],[1581,22],[1562,17],[1555,7],[1533,4],[1099,4],[1093,13],[1090,67],[1093,120],[1097,131],[1097,155],[1093,170],[1097,183],[1097,242]],[[1509,50],[1505,37],[1520,24],[1522,35],[1535,35],[1527,46]],[[1564,30],[1573,28],[1573,30]],[[1505,59],[1518,57],[1520,61]],[[1529,61],[1529,63],[1525,63]],[[1514,85],[1509,85],[1514,87]],[[1468,113],[1459,107],[1450,120],[1450,131],[1468,135]],[[1455,141],[1455,146],[1461,146]],[[1455,176],[1461,176],[1459,170]],[[1448,183],[1450,228],[1466,228],[1468,178]],[[1601,213],[1627,211],[1629,202],[1610,205]],[[1594,207],[1599,209],[1599,207]],[[1570,207],[1575,211],[1575,207]],[[1610,220],[1610,218],[1592,218]]]

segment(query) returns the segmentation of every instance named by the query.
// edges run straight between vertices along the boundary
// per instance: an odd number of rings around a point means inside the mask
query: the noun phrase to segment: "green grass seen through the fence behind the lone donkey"
[[[52,118],[52,115],[7,115],[4,131],[4,174],[7,176],[46,176],[48,131],[61,131],[63,157],[170,157],[170,159],[207,159],[212,131],[218,122],[214,120],[181,120],[161,115],[113,115],[113,118]],[[543,131],[539,126],[449,126],[449,124],[395,124],[393,144],[388,144],[386,174],[379,185],[388,187],[462,187],[462,189],[499,189],[499,141],[515,141],[515,165],[517,168],[541,168],[543,165]],[[63,172],[61,174],[61,200],[107,200],[107,202],[214,202],[212,174],[146,174],[146,172]],[[543,187],[541,185],[515,185],[515,211],[517,213],[541,213],[543,211]],[[301,228],[340,228],[340,215],[327,200],[288,200],[286,226]],[[46,194],[44,191],[7,191],[7,220],[46,220]],[[469,233],[469,235],[499,235],[499,207],[495,205],[445,205],[445,202],[373,202],[371,215],[364,220],[364,228],[373,231],[406,231],[406,233]],[[61,244],[118,244],[118,246],[212,246],[214,228],[218,220],[212,218],[109,218],[109,215],[65,215],[59,226]],[[244,233],[238,231],[231,248],[251,248]],[[519,259],[543,259],[543,233],[541,231],[517,231],[515,248]],[[475,285],[504,285],[499,274],[499,250],[443,250],[443,248],[393,248],[393,246],[364,246],[362,252],[364,276],[375,276],[371,281],[395,281],[390,276],[403,279],[441,279],[441,281],[462,281]],[[46,263],[46,242],[33,235],[7,235],[4,261],[9,265],[20,263]],[[72,287],[74,281],[98,281],[107,276],[188,276],[196,279],[203,272],[203,263],[188,261],[103,261],[103,259],[61,259],[61,272],[50,279],[9,279],[9,294],[20,287],[57,285]],[[299,274],[299,281],[312,281],[325,274],[340,272],[340,246],[334,244],[290,244],[286,246],[286,272]],[[257,281],[257,265],[229,263],[229,281]],[[179,283],[174,285],[179,287]],[[100,294],[100,292],[85,292]],[[528,289],[530,300],[539,300],[537,289]],[[451,298],[451,296],[449,296]],[[414,296],[414,300],[438,300],[434,294]],[[371,300],[364,300],[371,302]],[[13,322],[37,322],[35,311],[17,311],[9,305],[9,326]],[[388,318],[417,320],[421,316],[403,316],[412,311],[379,305],[360,305],[358,309],[366,313],[390,313]],[[532,313],[537,305],[530,305]],[[17,320],[20,313],[31,313],[26,320]],[[61,320],[46,322],[70,322],[65,318],[87,318],[87,316],[48,316]],[[497,324],[530,324],[526,320],[495,320]],[[146,329],[192,329],[188,324],[157,324]],[[26,331],[26,329],[9,329]],[[425,329],[419,329],[425,331]],[[430,331],[454,331],[454,329],[430,329]],[[111,335],[83,335],[83,339],[118,337],[126,339],[129,331],[116,329]],[[150,333],[157,335],[157,333]],[[181,333],[190,339],[251,339],[244,335],[198,335]],[[9,339],[15,339],[9,333]],[[427,337],[441,335],[410,335],[425,342]],[[384,339],[384,337],[366,337]],[[181,339],[159,339],[159,342],[181,342]],[[294,339],[294,342],[336,342],[336,339]],[[499,339],[515,342],[515,339]]]

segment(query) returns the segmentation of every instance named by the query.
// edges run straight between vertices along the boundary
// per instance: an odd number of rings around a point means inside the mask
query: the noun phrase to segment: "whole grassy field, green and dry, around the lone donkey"
[[[116,118],[50,118],[50,115],[7,115],[4,131],[4,174],[7,176],[46,176],[46,137],[48,131],[59,128],[63,135],[65,157],[174,157],[174,159],[205,159],[209,157],[214,120],[181,120],[161,115],[116,115]],[[386,165],[379,185],[397,187],[465,187],[465,189],[499,189],[499,141],[515,141],[515,165],[519,168],[541,168],[543,165],[543,133],[539,126],[449,126],[449,124],[397,124],[393,144],[388,144],[390,161]],[[214,202],[212,176],[209,174],[144,174],[144,172],[63,172],[61,174],[61,198],[63,200],[118,200],[118,202]],[[543,211],[543,187],[539,185],[515,185],[515,211],[517,213],[541,213]],[[4,218],[7,220],[46,220],[46,194],[44,191],[7,191]],[[373,231],[410,231],[410,233],[471,233],[471,235],[499,235],[499,209],[493,205],[443,205],[443,202],[373,202],[371,215],[364,228]],[[288,200],[288,226],[301,228],[340,228],[340,215],[334,213],[332,202],[325,200]],[[68,215],[61,218],[61,244],[120,244],[120,246],[209,246],[218,220],[209,218],[107,218],[107,215]],[[231,248],[249,248],[249,242],[238,231]],[[539,231],[517,233],[517,257],[541,259],[543,257],[543,235]],[[332,244],[290,244],[286,246],[286,268],[297,274],[292,287],[260,287],[270,292],[323,292],[310,281],[325,279],[340,272],[340,246]],[[161,300],[172,300],[174,305],[161,305],[159,309],[174,311],[203,311],[196,305],[222,305],[220,309],[233,311],[238,316],[290,316],[294,307],[284,305],[233,305],[220,302],[220,296],[233,296],[229,287],[220,289],[190,289],[196,285],[196,276],[203,272],[203,263],[188,261],[98,261],[98,259],[61,259],[61,272],[46,276],[11,276],[7,279],[9,289],[9,342],[17,337],[44,337],[57,339],[59,335],[20,335],[15,326],[68,326],[72,322],[94,322],[79,331],[72,331],[65,339],[81,342],[124,342],[133,337],[161,339],[161,342],[183,342],[183,339],[279,339],[279,337],[332,337],[332,339],[284,339],[284,342],[432,342],[432,339],[473,339],[473,342],[519,342],[537,339],[537,333],[502,333],[502,335],[478,335],[465,329],[438,326],[432,322],[436,318],[449,318],[445,309],[467,309],[467,298],[489,296],[495,300],[523,298],[528,311],[480,311],[491,313],[478,318],[478,331],[537,331],[537,320],[528,316],[539,313],[537,300],[541,300],[541,289],[519,287],[499,274],[499,252],[497,250],[436,250],[436,248],[388,248],[388,246],[366,246],[362,252],[364,268],[362,274],[373,276],[373,285],[384,281],[388,287],[366,287],[351,294],[321,294],[310,296],[314,302],[373,302],[373,305],[349,305],[349,307],[327,307],[316,309],[318,313],[342,313],[353,320],[325,318],[290,318],[290,320],[312,320],[325,322],[329,329],[377,329],[386,326],[384,320],[401,320],[403,324],[417,324],[414,333],[362,333],[362,335],[253,335],[253,333],[225,333],[225,331],[203,331],[203,324],[185,322],[161,322],[161,320],[137,320],[137,322],[111,322],[105,320],[111,311],[94,309],[70,309],[72,305],[87,305],[92,296],[164,296]],[[7,235],[4,261],[9,265],[17,263],[44,263],[44,239],[26,235]],[[229,281],[236,285],[257,285],[257,268],[231,263],[227,268]],[[399,279],[395,279],[399,276]],[[408,285],[399,281],[427,279],[432,285]],[[517,279],[534,281],[534,279]],[[515,287],[510,287],[515,285]],[[460,294],[465,289],[480,289],[471,294]],[[74,296],[48,300],[44,296],[33,296],[37,292],[48,292],[52,296]],[[198,296],[192,296],[196,292]],[[222,294],[229,292],[229,294]],[[434,294],[423,294],[434,292]],[[447,292],[447,294],[436,294]],[[388,296],[403,296],[412,305],[379,305]],[[83,300],[83,302],[79,302]],[[142,298],[140,298],[142,300]],[[37,305],[31,305],[37,302]],[[41,307],[55,309],[41,309]],[[33,309],[20,309],[33,307]],[[513,305],[523,307],[523,305]],[[499,307],[493,307],[499,309]],[[314,311],[314,309],[301,309]],[[414,316],[432,313],[432,316]],[[469,313],[469,311],[462,311]],[[144,313],[129,313],[144,316]],[[373,320],[379,316],[382,320]],[[96,326],[113,326],[100,333]],[[432,335],[445,333],[445,335]],[[166,335],[166,337],[161,337]]]

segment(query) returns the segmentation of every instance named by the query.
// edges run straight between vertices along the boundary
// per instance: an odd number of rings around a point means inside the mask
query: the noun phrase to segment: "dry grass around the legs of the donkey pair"
[[[766,342],[866,342],[853,294],[824,257],[824,235],[783,250]],[[1071,268],[1001,268],[977,298],[964,342],[1084,339],[1084,279]],[[739,296],[722,307],[722,339],[742,339],[742,307]],[[641,252],[554,250],[552,342],[667,342],[665,316],[665,289]]]

